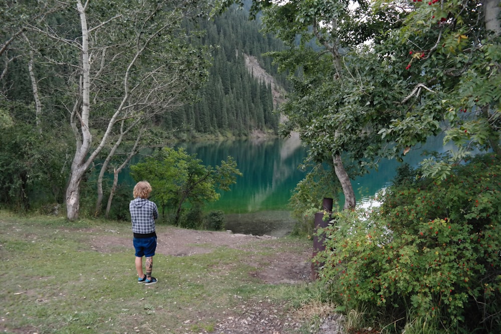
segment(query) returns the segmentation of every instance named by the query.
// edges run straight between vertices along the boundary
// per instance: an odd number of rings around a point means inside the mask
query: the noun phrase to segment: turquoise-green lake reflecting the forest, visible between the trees
[[[207,210],[222,210],[226,227],[234,233],[283,236],[295,224],[288,201],[296,184],[305,176],[298,169],[307,155],[298,136],[287,139],[248,139],[216,142],[184,143],[179,145],[196,154],[206,165],[218,165],[231,156],[243,176],[238,177],[231,191],[222,192],[217,202]],[[415,167],[424,151],[443,152],[442,138],[431,138],[426,145],[412,149],[404,162]],[[357,203],[367,206],[371,197],[391,184],[399,163],[383,160],[378,171],[352,180]]]

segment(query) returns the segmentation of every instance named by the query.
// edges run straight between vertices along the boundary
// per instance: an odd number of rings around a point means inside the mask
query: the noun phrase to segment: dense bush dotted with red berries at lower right
[[[317,258],[333,298],[409,332],[499,332],[500,170],[480,156],[441,183],[391,187],[371,213],[338,214]]]

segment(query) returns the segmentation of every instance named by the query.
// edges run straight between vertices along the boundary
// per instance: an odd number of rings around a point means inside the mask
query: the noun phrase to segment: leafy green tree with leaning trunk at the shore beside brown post
[[[224,6],[232,1],[219,3]],[[271,53],[279,69],[291,73],[293,83],[280,110],[288,116],[282,133],[298,131],[310,147],[313,161],[333,164],[345,195],[345,209],[356,205],[350,182],[355,175],[348,173],[343,160],[354,161],[359,173],[374,167],[379,151],[388,143],[378,131],[392,113],[400,111],[382,113],[374,108],[385,99],[379,99],[377,89],[381,87],[368,77],[379,70],[381,59],[361,46],[392,24],[377,20],[380,14],[371,14],[368,3],[357,5],[353,9],[349,2],[330,0],[253,2],[254,14],[263,9],[266,30],[289,47]],[[301,75],[294,75],[297,73]],[[388,78],[384,72],[378,74],[378,79],[388,81],[382,87],[393,84]],[[388,103],[391,101],[393,97]]]

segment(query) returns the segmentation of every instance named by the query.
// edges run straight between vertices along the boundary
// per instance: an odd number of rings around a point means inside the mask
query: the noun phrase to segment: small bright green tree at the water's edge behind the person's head
[[[229,186],[242,174],[236,162],[228,157],[215,167],[204,166],[194,154],[182,148],[164,148],[144,162],[131,166],[134,180],[148,180],[152,198],[165,209],[174,210],[174,223],[180,223],[182,209],[219,198],[217,190],[229,191]]]

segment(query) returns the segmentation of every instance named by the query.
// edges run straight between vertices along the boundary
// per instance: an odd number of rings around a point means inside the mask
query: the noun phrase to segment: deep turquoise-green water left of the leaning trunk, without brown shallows
[[[225,213],[248,213],[287,210],[291,191],[305,173],[298,165],[306,157],[306,149],[298,139],[238,140],[204,142],[183,146],[196,153],[206,165],[219,165],[231,156],[243,176],[221,198],[207,208]]]

